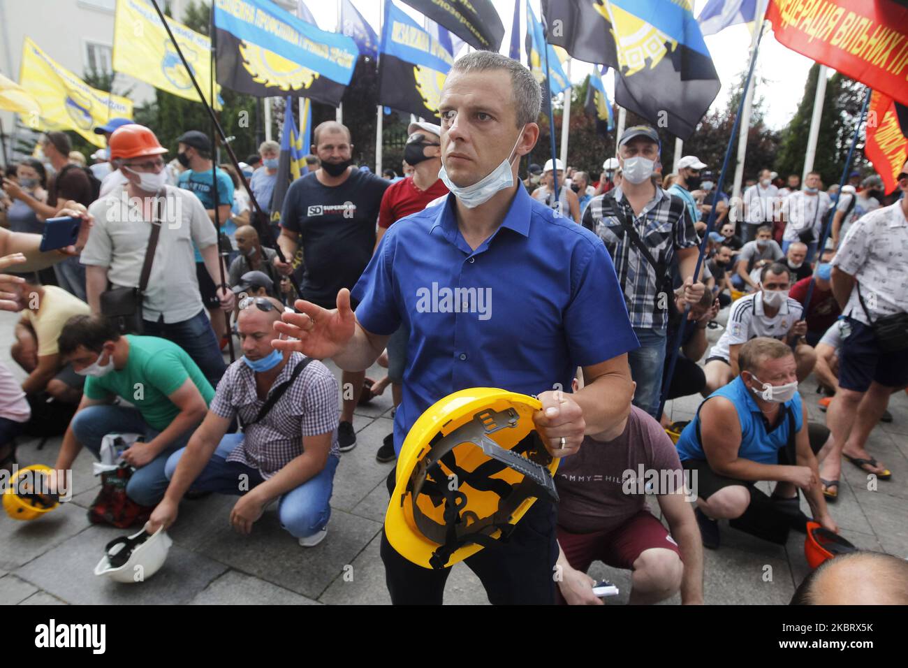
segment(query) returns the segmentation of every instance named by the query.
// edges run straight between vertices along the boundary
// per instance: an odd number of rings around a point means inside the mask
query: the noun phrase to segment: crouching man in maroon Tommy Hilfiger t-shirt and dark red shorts
[[[665,489],[646,489],[650,472]],[[632,406],[613,429],[586,436],[577,454],[558,467],[555,484],[561,497],[560,603],[602,604],[587,575],[594,560],[634,572],[632,604],[658,603],[679,589],[681,603],[703,603],[703,548],[685,498],[681,463],[665,430],[646,411]],[[650,493],[656,494],[671,534],[647,509]]]

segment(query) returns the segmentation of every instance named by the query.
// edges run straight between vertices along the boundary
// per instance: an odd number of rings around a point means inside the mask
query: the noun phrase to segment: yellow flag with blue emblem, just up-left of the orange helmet
[[[19,81],[41,107],[40,114],[22,115],[23,123],[34,130],[75,130],[104,148],[104,135],[95,135],[94,128],[111,118],[133,117],[131,100],[87,85],[28,37],[22,45]]]

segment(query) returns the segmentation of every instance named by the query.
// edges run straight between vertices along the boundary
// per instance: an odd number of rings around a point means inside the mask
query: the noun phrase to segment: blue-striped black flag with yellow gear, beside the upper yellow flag
[[[219,84],[247,95],[293,95],[337,106],[360,55],[329,33],[267,0],[214,0]]]

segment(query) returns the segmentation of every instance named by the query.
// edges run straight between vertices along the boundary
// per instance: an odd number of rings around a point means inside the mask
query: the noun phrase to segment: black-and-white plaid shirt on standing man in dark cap
[[[656,188],[640,215],[635,215],[627,198],[616,186],[606,194],[594,197],[583,214],[583,226],[593,230],[606,244],[615,264],[618,283],[624,286],[627,314],[634,327],[664,330],[666,307],[671,300],[658,300],[662,277],[656,267],[646,261],[637,247],[627,237],[619,222],[619,214],[633,224],[657,263],[670,274],[675,259],[675,249],[692,248],[700,243],[694,221],[685,201]],[[661,308],[660,308],[661,307]]]

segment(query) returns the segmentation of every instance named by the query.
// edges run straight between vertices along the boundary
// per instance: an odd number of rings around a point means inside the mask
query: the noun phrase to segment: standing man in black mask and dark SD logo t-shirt
[[[375,248],[375,224],[389,181],[353,165],[350,130],[326,121],[315,128],[312,153],[321,166],[294,181],[284,197],[278,244],[291,263],[273,260],[281,274],[303,265],[300,297],[333,309],[341,288],[352,289]],[[297,249],[302,246],[301,257]],[[356,304],[353,304],[356,308]],[[360,400],[363,372],[343,372],[341,452],[356,447],[353,409]]]

